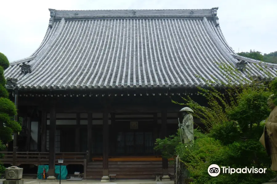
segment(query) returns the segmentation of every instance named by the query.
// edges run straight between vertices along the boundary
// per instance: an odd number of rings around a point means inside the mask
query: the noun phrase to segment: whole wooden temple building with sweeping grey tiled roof
[[[277,74],[277,65],[233,51],[217,10],[49,9],[40,46],[4,73],[23,130],[1,161],[49,165],[49,176],[63,158],[89,179],[168,178],[174,167],[153,148],[178,130],[183,106],[171,99],[201,103],[197,87],[207,81],[223,90],[221,64]]]

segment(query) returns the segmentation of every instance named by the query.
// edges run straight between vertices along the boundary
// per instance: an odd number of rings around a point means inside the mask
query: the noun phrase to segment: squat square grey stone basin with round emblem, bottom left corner
[[[21,179],[23,174],[23,168],[16,166],[8,167],[5,170],[6,180],[3,180],[3,184],[23,184],[24,180]]]

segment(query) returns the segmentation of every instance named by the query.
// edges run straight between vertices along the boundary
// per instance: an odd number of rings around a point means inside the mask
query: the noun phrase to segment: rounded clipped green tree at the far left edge
[[[14,121],[14,115],[17,113],[16,107],[9,100],[9,93],[5,89],[6,79],[4,77],[4,69],[7,67],[9,67],[9,61],[0,52],[0,149],[5,148],[3,144],[12,140],[13,132],[21,131],[21,125],[17,121]],[[1,168],[0,165],[0,172],[2,171]]]

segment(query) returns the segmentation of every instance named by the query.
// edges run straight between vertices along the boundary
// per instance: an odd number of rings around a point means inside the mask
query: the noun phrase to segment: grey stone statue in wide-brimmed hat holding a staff
[[[180,135],[181,135],[181,142],[184,144],[194,144],[194,134],[193,134],[193,116],[191,113],[193,113],[193,110],[191,110],[188,107],[184,107],[180,110],[183,117],[182,124],[179,121],[179,127],[180,127]],[[191,112],[191,113],[189,113]]]

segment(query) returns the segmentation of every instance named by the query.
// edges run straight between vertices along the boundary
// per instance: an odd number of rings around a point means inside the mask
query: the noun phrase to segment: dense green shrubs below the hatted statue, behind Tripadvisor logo
[[[227,124],[227,126],[229,126]],[[262,125],[261,125],[262,126]],[[199,132],[196,132],[199,134]],[[240,140],[232,144],[223,145],[222,141],[216,140],[209,134],[202,134],[195,139],[193,146],[179,144],[176,147],[185,167],[194,180],[193,184],[260,184],[275,177],[270,170],[271,159],[266,155],[263,146],[258,140]],[[219,167],[255,167],[267,168],[266,174],[219,174],[211,177],[208,167],[217,164]],[[222,171],[222,170],[221,170]]]

